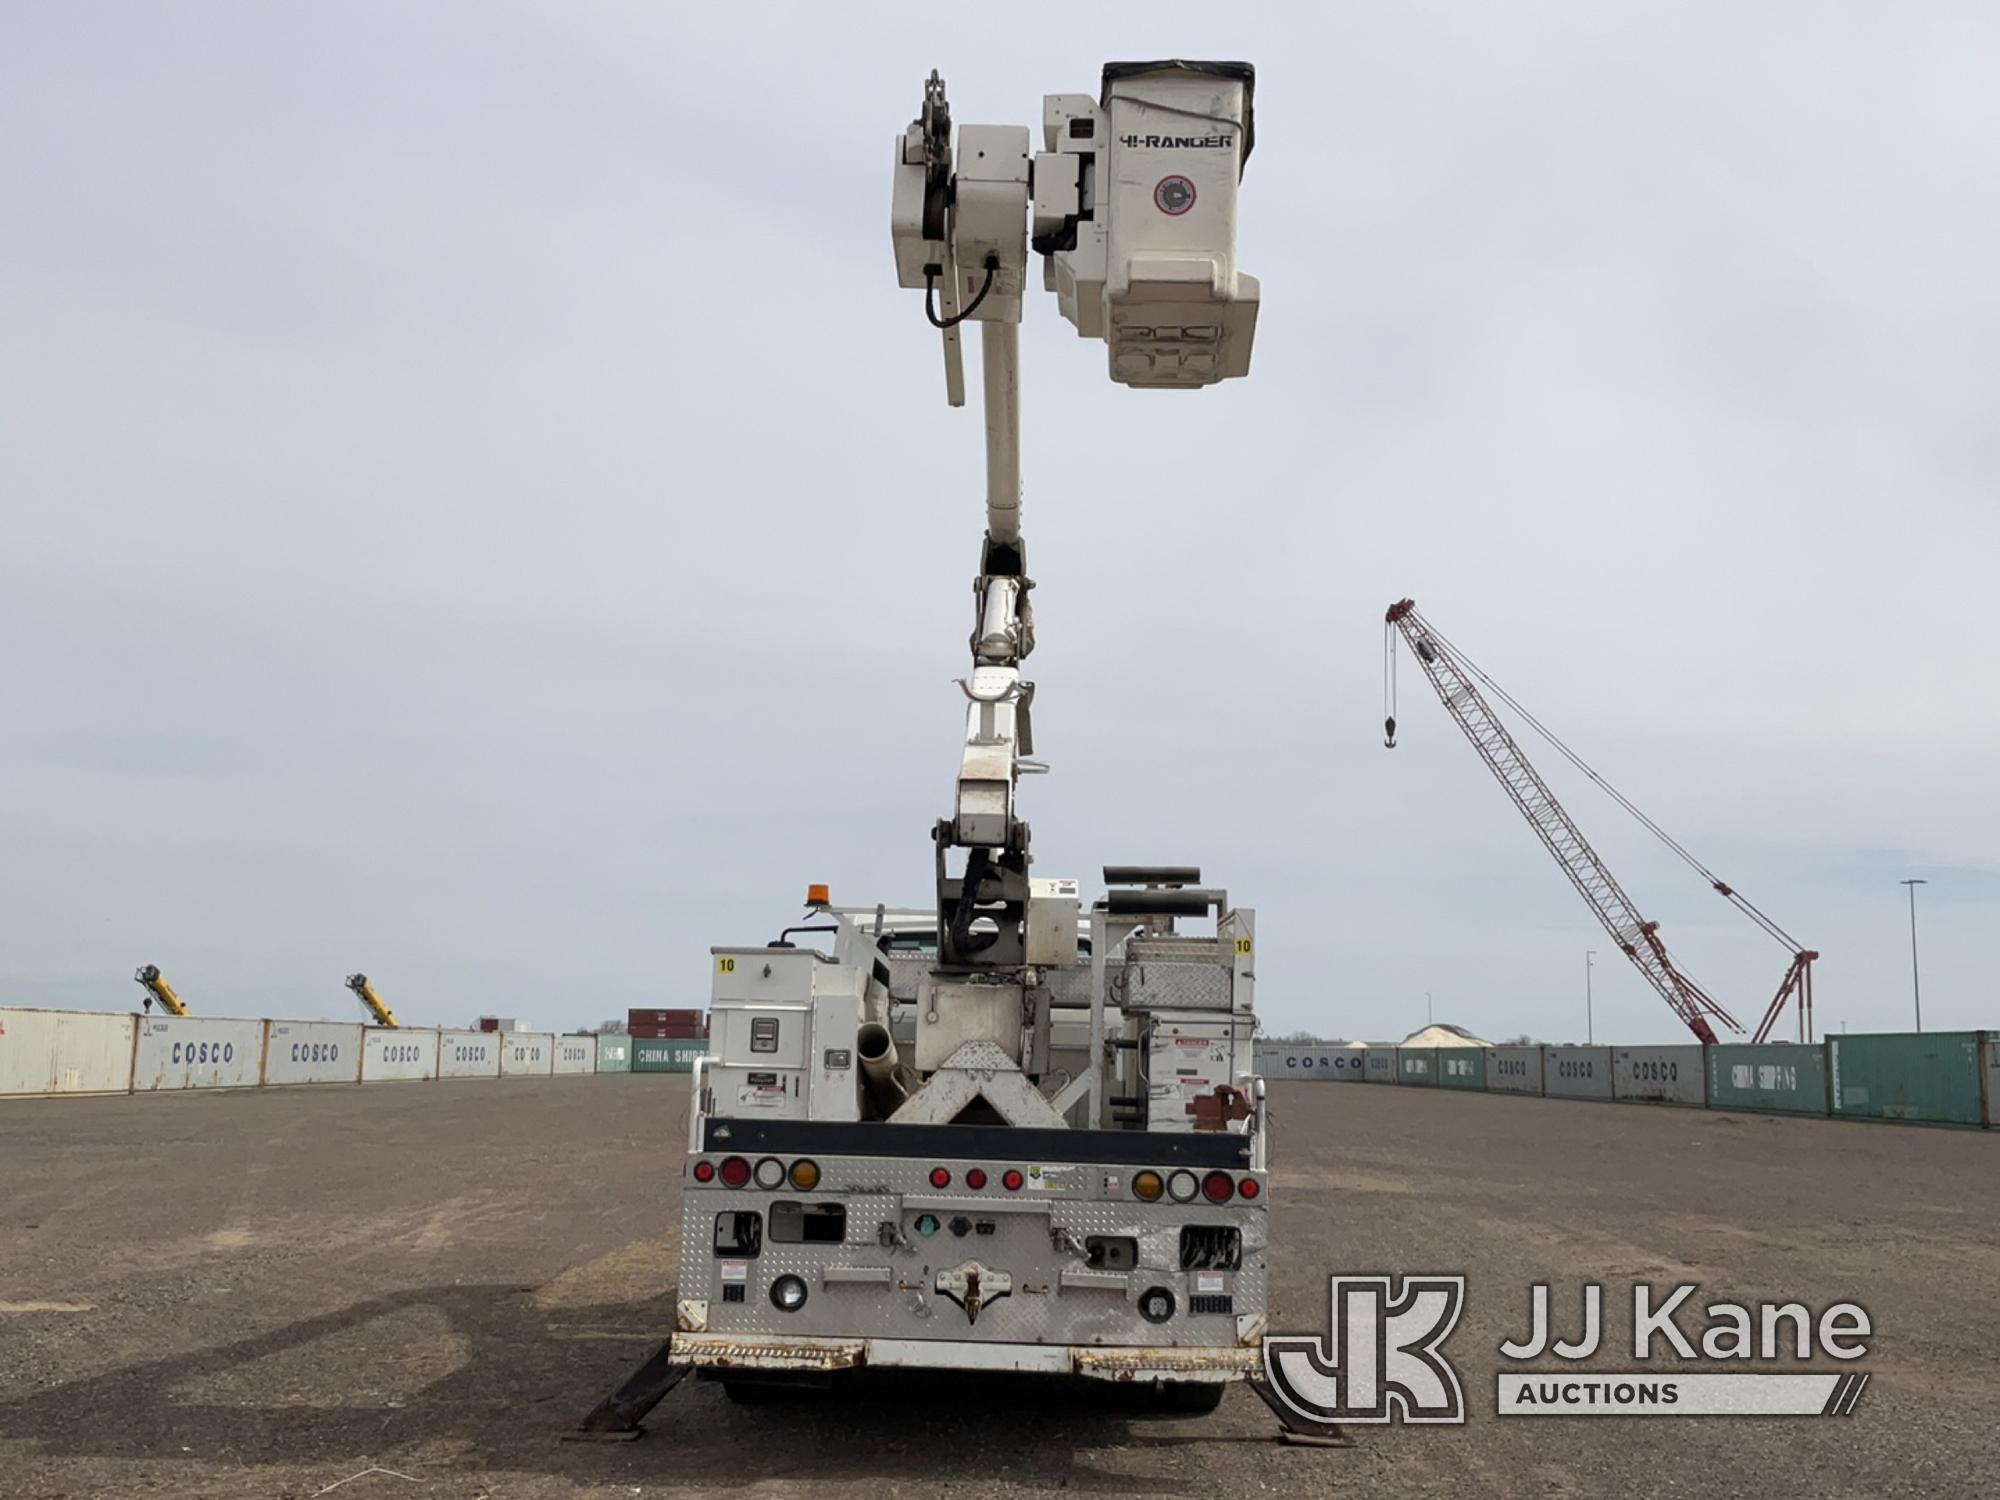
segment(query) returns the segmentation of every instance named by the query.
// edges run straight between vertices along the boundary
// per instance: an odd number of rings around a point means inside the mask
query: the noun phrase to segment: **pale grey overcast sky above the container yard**
[[[1008,16],[8,6],[0,1002],[562,1028],[928,904],[982,450],[892,138],[1180,54],[1258,68],[1262,320],[1130,392],[1032,294],[1038,874],[1200,864],[1272,1030],[1580,1040],[1594,948],[1686,1040],[1410,662],[1382,748],[1414,594],[1822,1028],[1908,1028],[1910,876],[2000,1026],[2000,12]],[[1542,770],[1754,1024],[1786,952]]]

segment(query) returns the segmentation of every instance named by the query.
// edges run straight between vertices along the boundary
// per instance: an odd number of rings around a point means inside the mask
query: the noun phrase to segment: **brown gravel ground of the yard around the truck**
[[[670,1322],[684,1106],[660,1076],[0,1102],[0,1492],[2000,1484],[2000,1134],[1362,1084],[1272,1088],[1274,1324],[1324,1330],[1336,1270],[1466,1272],[1448,1344],[1464,1428],[1306,1450],[1274,1444],[1240,1390],[1162,1420],[1070,1386],[878,1382],[742,1408],[690,1382],[644,1442],[560,1444]],[[1630,1280],[1858,1300],[1874,1378],[1846,1420],[1496,1418],[1496,1346],[1536,1280],[1556,1282],[1558,1328],[1604,1280],[1614,1348]]]

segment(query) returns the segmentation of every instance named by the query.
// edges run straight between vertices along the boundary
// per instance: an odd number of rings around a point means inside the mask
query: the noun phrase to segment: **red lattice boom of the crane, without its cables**
[[[1410,650],[1418,666],[1424,668],[1424,676],[1430,678],[1444,712],[1456,720],[1494,780],[1514,798],[1514,806],[1520,808],[1542,846],[1556,856],[1556,864],[1576,886],[1576,894],[1596,912],[1598,922],[1618,944],[1618,952],[1632,960],[1632,966],[1704,1044],[1714,1046],[1716,1042],[1710,1018],[1732,1032],[1742,1032],[1742,1026],[1674,964],[1666,944],[1660,942],[1660,924],[1640,916],[1624,886],[1590,848],[1590,840],[1584,838],[1562,802],[1548,790],[1548,782],[1508,734],[1506,724],[1494,714],[1492,704],[1480,694],[1456,652],[1416,612],[1416,600],[1392,604],[1388,624],[1410,642]],[[1780,1004],[1782,998],[1780,990]]]

